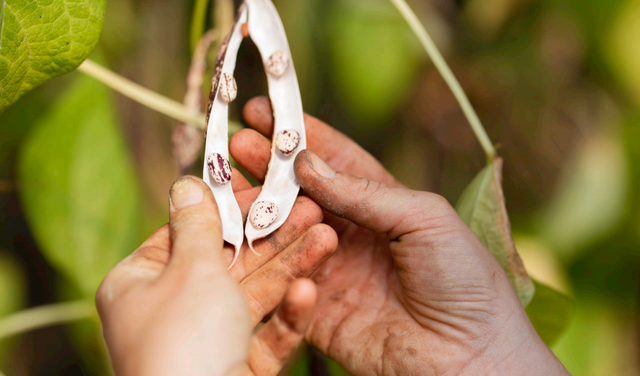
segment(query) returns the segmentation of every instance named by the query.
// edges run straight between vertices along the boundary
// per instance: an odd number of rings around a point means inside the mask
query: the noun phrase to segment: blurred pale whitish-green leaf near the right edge
[[[565,262],[623,223],[630,177],[621,141],[615,129],[589,134],[539,218],[542,237]]]

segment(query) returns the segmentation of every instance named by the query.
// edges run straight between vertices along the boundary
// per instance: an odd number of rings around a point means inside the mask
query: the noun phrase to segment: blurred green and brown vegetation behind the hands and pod
[[[393,5],[274,3],[306,112],[353,137],[404,184],[455,203],[485,156]],[[573,298],[552,349],[573,375],[640,375],[640,1],[409,3],[499,145],[527,270]],[[194,7],[109,0],[92,59],[182,101]],[[215,16],[208,26],[221,22]],[[236,78],[240,121],[244,103],[266,92],[248,41]],[[26,307],[79,301],[54,314],[89,317],[2,340],[8,376],[109,374],[91,297],[168,220],[176,124],[80,72],[0,115],[0,334],[2,317]],[[309,369],[342,374],[308,352],[291,372]]]

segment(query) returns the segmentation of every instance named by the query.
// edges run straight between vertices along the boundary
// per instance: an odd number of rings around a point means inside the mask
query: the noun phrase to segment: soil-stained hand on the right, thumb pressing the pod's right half
[[[230,150],[261,180],[270,152],[263,135],[273,131],[268,100],[250,101],[244,117],[259,133],[238,132]],[[305,125],[317,155],[299,153],[296,177],[339,236],[313,277],[319,299],[307,341],[355,374],[567,374],[445,199],[402,187],[317,119]]]

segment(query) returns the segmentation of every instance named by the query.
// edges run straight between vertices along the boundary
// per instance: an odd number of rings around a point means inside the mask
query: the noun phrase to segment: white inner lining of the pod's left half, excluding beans
[[[236,56],[242,43],[242,24],[247,21],[247,10],[243,5],[231,33],[220,46],[218,61],[211,86],[207,123],[205,128],[205,163],[202,178],[213,192],[222,220],[222,238],[235,247],[235,255],[231,266],[238,259],[240,246],[244,240],[242,213],[233,194],[231,184],[218,184],[212,178],[207,166],[207,156],[218,153],[229,160],[229,103],[220,98],[220,83],[223,73],[233,76],[236,67]],[[229,266],[229,268],[231,268]]]

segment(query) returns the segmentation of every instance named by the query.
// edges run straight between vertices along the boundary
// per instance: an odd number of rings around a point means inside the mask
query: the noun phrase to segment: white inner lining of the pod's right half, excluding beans
[[[251,221],[247,221],[245,235],[249,247],[254,251],[253,241],[277,230],[291,213],[300,190],[293,172],[293,162],[298,152],[307,147],[307,140],[298,79],[280,16],[270,0],[246,0],[246,4],[249,8],[249,35],[258,47],[263,62],[267,62],[276,52],[282,52],[288,57],[288,66],[281,76],[276,77],[266,72],[273,108],[274,132],[267,176],[262,192],[253,205],[262,201],[271,202],[278,208],[278,217],[266,228],[256,228]],[[297,149],[290,155],[283,155],[275,149],[276,135],[286,129],[295,130],[300,136]]]

